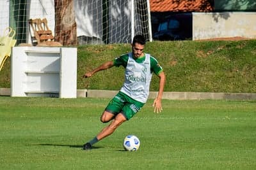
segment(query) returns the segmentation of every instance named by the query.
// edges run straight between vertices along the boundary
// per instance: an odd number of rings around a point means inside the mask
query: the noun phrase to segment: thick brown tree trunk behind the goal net
[[[76,45],[76,16],[73,0],[54,0],[55,41],[64,46]]]

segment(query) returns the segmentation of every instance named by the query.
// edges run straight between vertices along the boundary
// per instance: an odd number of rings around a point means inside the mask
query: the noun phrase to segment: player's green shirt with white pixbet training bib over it
[[[114,65],[125,67],[125,82],[120,91],[136,101],[146,103],[152,73],[163,71],[157,60],[147,53],[139,59],[134,59],[132,53],[128,53],[116,58]]]

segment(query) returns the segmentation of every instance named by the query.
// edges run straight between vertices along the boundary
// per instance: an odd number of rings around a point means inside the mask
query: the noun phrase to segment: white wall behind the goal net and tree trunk
[[[54,0],[28,0],[27,20],[30,18],[47,18],[49,29],[54,33]],[[74,0],[77,36],[102,38],[102,1]],[[129,0],[109,1],[109,41],[126,43],[131,32],[131,3]],[[9,24],[10,0],[0,0],[0,35]],[[29,24],[27,25],[29,27]],[[33,31],[31,32],[33,34]],[[126,35],[126,37],[124,36]],[[27,32],[27,43],[31,43]]]

